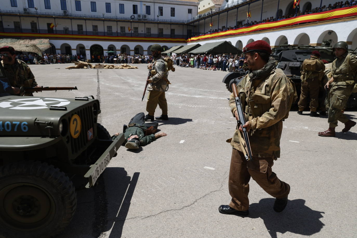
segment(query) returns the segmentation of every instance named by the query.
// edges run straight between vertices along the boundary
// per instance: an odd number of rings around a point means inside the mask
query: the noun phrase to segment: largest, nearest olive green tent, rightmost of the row
[[[240,54],[242,51],[237,49],[228,41],[218,41],[206,43],[195,50],[189,52],[190,54]]]

